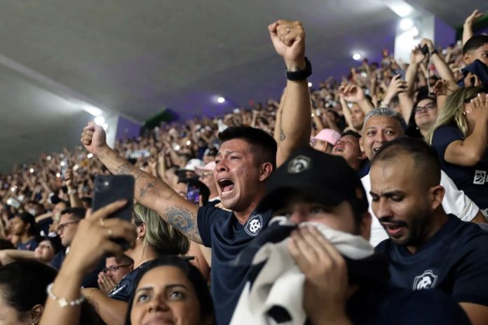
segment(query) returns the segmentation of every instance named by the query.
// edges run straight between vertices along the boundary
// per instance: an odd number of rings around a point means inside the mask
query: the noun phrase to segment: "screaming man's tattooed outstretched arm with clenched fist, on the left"
[[[196,224],[198,206],[184,200],[164,181],[139,170],[107,145],[103,127],[90,122],[83,129],[81,143],[93,153],[112,174],[133,175],[134,198],[158,214],[194,242],[201,243]]]

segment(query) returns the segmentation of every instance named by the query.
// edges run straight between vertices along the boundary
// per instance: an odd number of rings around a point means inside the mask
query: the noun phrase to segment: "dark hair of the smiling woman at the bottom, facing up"
[[[178,256],[164,256],[161,258],[156,258],[153,261],[147,263],[147,266],[144,267],[141,272],[137,275],[134,280],[133,292],[130,294],[129,300],[129,307],[126,314],[126,325],[130,324],[130,314],[132,312],[132,307],[134,303],[135,297],[135,290],[139,285],[140,280],[144,275],[154,268],[158,268],[159,266],[174,266],[175,268],[179,268],[182,270],[187,278],[193,285],[193,289],[196,294],[196,298],[198,298],[198,303],[200,303],[200,319],[201,321],[208,319],[208,317],[214,318],[214,307],[212,303],[212,297],[210,296],[210,292],[208,291],[207,282],[203,279],[201,272],[198,268],[191,265],[189,261],[184,260]]]

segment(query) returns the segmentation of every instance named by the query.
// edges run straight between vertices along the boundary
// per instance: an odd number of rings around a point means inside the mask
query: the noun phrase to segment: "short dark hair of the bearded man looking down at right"
[[[423,180],[430,181],[429,185],[440,184],[440,163],[435,149],[429,146],[426,141],[412,137],[400,137],[379,148],[371,163],[373,166],[378,161],[393,160],[399,155],[408,155],[415,162]],[[434,184],[435,183],[435,184]]]

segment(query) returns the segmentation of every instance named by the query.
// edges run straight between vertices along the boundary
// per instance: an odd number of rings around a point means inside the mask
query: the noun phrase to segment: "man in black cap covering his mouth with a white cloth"
[[[271,209],[273,218],[281,221],[273,223],[272,219],[235,261],[253,262],[248,273],[252,284],[246,285],[250,293],[243,292],[231,324],[244,324],[244,318],[264,324],[263,317],[293,324],[303,324],[297,321],[304,317],[311,324],[469,324],[461,307],[442,293],[412,292],[388,284],[388,262],[384,256],[374,254],[367,242],[371,216],[365,190],[343,158],[311,148],[300,149],[271,175],[266,193],[258,211]],[[256,259],[263,251],[274,254],[279,250],[264,244],[278,247],[282,240],[287,240],[292,264],[296,263],[304,275],[304,310],[297,311],[299,302],[294,301],[289,307],[286,302],[270,305],[264,314],[260,311],[257,315],[255,310],[261,308],[250,297],[257,297],[252,290],[262,284],[262,273],[285,268],[278,277],[271,278],[269,284],[273,286],[294,268],[287,265],[286,256],[280,258],[279,265],[270,265],[272,268]],[[269,256],[267,261],[272,259]],[[292,283],[286,282],[281,296],[297,296],[292,295]],[[269,293],[259,305],[269,304],[271,296]]]

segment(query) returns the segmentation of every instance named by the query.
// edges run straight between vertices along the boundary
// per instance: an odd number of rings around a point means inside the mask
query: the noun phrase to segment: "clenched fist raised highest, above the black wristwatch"
[[[283,57],[287,69],[304,69],[305,31],[301,22],[278,20],[269,25],[268,29],[276,53]]]

